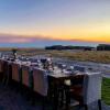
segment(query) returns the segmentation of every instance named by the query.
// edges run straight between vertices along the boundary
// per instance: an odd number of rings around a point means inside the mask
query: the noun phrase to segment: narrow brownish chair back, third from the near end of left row
[[[20,81],[20,65],[12,64],[12,79],[15,81]]]

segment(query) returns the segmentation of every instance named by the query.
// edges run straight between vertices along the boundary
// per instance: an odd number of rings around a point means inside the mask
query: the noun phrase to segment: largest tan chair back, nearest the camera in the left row
[[[48,82],[45,70],[42,69],[33,70],[33,85],[34,85],[34,91],[36,91],[41,96],[47,96]]]

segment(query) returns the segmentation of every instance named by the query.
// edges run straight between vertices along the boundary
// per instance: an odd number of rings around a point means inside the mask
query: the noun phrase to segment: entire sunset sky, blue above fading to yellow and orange
[[[110,43],[110,0],[0,0],[0,46]]]

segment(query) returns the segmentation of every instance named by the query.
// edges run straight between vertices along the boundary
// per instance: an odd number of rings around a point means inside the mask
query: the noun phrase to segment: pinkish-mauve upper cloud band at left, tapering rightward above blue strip
[[[0,43],[32,43],[36,41],[65,41],[44,35],[18,35],[0,33]]]

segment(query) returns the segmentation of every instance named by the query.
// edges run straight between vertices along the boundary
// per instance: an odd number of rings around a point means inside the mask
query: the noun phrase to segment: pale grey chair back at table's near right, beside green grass
[[[101,99],[101,80],[102,77],[100,73],[85,75],[82,86],[82,97],[85,105],[89,105]]]

